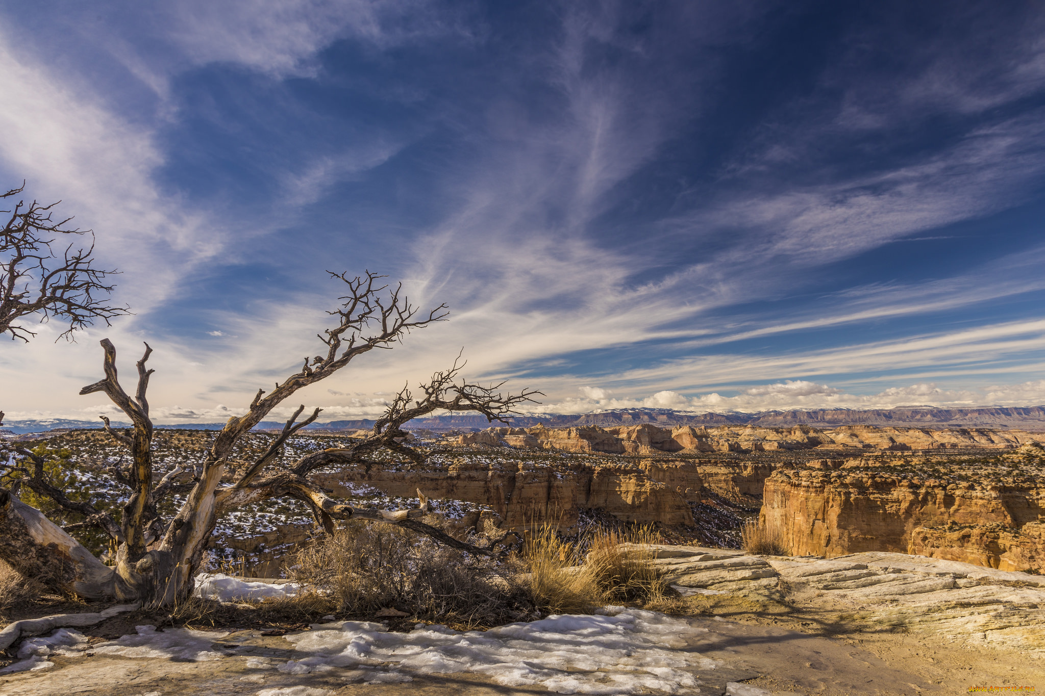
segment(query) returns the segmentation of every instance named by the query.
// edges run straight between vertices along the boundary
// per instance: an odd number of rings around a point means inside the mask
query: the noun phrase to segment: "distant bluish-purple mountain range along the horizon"
[[[582,413],[580,415],[563,415],[557,413],[528,414],[513,417],[512,425],[516,428],[530,428],[543,424],[548,428],[568,428],[575,426],[635,426],[651,423],[660,427],[670,426],[762,426],[767,428],[786,428],[795,425],[811,425],[833,428],[846,425],[868,426],[932,426],[961,428],[1024,428],[1045,430],[1045,406],[982,406],[977,408],[935,408],[932,406],[902,406],[899,408],[849,409],[821,408],[809,410],[759,411],[757,413],[686,413],[661,408],[624,408],[609,411]],[[359,418],[356,421],[332,421],[317,423],[309,430],[357,430],[373,428],[374,421]],[[428,418],[416,418],[407,424],[412,430],[472,430],[488,428],[490,425],[485,416],[436,415]],[[127,427],[129,424],[114,423],[113,426]],[[0,426],[0,429],[17,434],[45,432],[55,429],[98,428],[97,421],[70,421],[65,418],[47,418],[41,421],[10,421]],[[224,423],[191,423],[179,425],[157,425],[157,428],[175,428],[180,430],[220,430]],[[283,423],[262,421],[255,430],[278,430]]]

